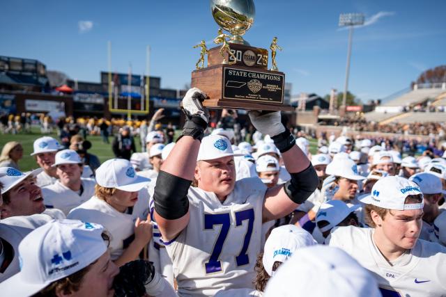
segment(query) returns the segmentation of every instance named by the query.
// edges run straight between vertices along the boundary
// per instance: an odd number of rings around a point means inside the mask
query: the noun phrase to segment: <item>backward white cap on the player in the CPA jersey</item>
[[[424,202],[404,203],[408,195],[420,194],[423,195],[420,187],[415,182],[404,177],[388,176],[379,179],[371,188],[371,194],[364,196],[360,201],[384,209],[423,209]]]

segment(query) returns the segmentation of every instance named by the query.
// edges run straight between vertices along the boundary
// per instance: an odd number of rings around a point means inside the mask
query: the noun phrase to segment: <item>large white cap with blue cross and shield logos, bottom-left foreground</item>
[[[19,244],[20,272],[1,282],[3,296],[31,296],[95,262],[105,252],[104,228],[80,220],[52,220]]]

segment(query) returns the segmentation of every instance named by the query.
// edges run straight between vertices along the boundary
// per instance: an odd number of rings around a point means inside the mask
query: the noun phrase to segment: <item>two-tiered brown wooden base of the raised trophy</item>
[[[192,87],[208,95],[203,106],[209,109],[247,109],[257,111],[293,111],[284,105],[285,74],[270,71],[268,51],[231,44],[237,60],[222,64],[220,47],[209,50],[209,67],[192,72]],[[234,61],[225,54],[226,61]]]

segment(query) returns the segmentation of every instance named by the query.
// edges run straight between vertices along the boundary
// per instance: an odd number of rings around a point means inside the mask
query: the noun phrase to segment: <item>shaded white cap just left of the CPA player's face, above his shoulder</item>
[[[321,208],[316,214],[316,224],[321,222],[321,220],[328,221],[328,225],[319,228],[321,232],[328,231],[333,227],[336,227],[337,224],[341,223],[344,218],[346,218],[360,206],[360,204],[354,204],[353,206],[348,207],[348,205],[341,200],[330,200],[325,202],[321,205]]]

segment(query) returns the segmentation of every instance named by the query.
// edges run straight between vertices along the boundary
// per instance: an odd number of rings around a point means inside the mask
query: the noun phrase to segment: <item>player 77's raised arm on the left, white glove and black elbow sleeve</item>
[[[206,94],[197,88],[187,91],[183,111],[187,120],[183,132],[157,177],[155,193],[155,220],[164,241],[174,239],[189,223],[187,192],[194,178],[200,141],[208,125],[209,113],[201,101]]]

